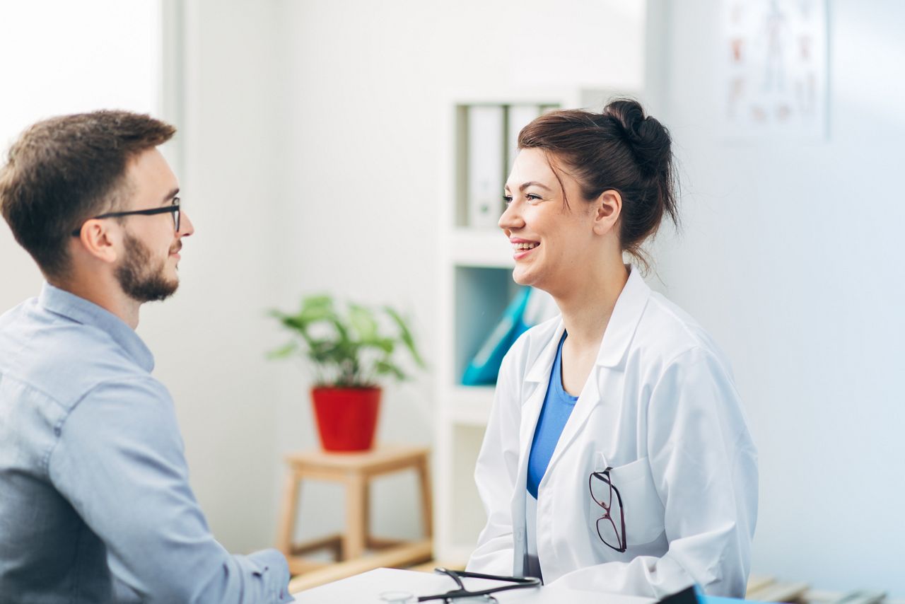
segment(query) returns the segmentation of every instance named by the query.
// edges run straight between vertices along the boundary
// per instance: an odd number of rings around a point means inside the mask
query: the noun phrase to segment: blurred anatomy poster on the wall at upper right
[[[826,1],[723,0],[720,79],[729,138],[823,139]]]

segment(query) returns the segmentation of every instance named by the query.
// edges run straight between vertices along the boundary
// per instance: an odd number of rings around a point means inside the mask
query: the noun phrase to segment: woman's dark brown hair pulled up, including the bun
[[[657,232],[663,214],[679,225],[672,139],[659,121],[644,115],[638,101],[610,101],[603,113],[546,113],[521,130],[519,149],[543,149],[560,187],[563,171],[576,179],[586,201],[618,191],[623,198],[619,241],[645,269],[641,245]],[[563,187],[568,206],[565,196]]]

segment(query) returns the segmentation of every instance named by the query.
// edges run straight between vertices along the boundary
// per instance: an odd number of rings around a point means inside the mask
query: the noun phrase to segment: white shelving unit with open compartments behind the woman
[[[500,320],[519,286],[512,250],[495,227],[468,225],[469,107],[593,108],[620,93],[606,89],[451,95],[443,111],[434,557],[464,564],[486,521],[474,465],[490,417],[494,388],[461,385],[462,372]],[[625,92],[622,92],[625,93]],[[509,115],[504,110],[505,115]],[[504,128],[508,125],[504,119]],[[504,137],[505,140],[505,137]],[[501,151],[505,152],[505,151]],[[508,176],[510,166],[504,162]],[[505,176],[503,177],[505,180]],[[502,212],[500,190],[500,213]]]

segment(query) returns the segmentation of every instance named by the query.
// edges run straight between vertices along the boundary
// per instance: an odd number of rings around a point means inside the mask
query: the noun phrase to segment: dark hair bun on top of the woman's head
[[[641,103],[633,99],[616,99],[607,103],[604,115],[622,127],[625,141],[644,172],[654,174],[669,165],[672,158],[669,130],[655,118],[644,115]]]

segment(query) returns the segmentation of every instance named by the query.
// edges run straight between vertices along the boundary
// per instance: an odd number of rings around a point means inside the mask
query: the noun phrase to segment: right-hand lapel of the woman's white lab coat
[[[651,288],[648,287],[647,283],[644,283],[637,269],[630,267],[628,282],[625,283],[622,293],[619,294],[613,314],[610,316],[610,321],[606,324],[604,339],[600,343],[595,366],[591,369],[591,373],[585,382],[585,388],[582,388],[581,393],[578,395],[575,408],[572,409],[572,415],[569,416],[566,426],[563,427],[557,446],[553,450],[553,455],[550,456],[550,463],[547,466],[545,478],[550,475],[550,469],[556,465],[557,460],[562,457],[572,441],[581,434],[587,418],[591,415],[594,408],[602,402],[618,403],[618,401],[602,400],[601,388],[603,385],[601,376],[603,372],[608,370],[607,368],[615,368],[623,362],[625,352],[632,342],[634,332],[638,327],[638,322],[641,321],[641,315],[650,295]],[[561,335],[562,331],[559,333]]]

